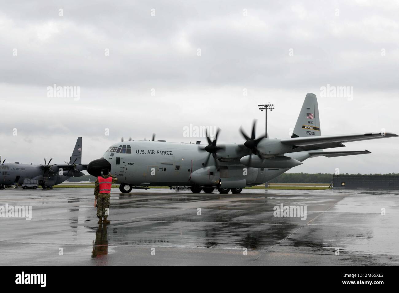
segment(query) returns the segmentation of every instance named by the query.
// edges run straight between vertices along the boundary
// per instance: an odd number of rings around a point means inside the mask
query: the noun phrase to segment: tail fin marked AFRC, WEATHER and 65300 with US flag
[[[296,120],[294,132],[291,138],[304,136],[320,136],[319,108],[315,94],[306,94],[305,100],[300,110],[298,120]]]

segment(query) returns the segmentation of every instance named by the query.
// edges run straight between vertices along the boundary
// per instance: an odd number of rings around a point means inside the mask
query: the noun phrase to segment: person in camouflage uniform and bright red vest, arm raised
[[[111,222],[107,220],[108,214],[105,209],[109,210],[111,185],[117,182],[118,178],[110,175],[108,169],[104,169],[101,173],[102,176],[97,177],[94,187],[94,196],[97,199],[97,218],[99,218],[97,224],[109,224]]]

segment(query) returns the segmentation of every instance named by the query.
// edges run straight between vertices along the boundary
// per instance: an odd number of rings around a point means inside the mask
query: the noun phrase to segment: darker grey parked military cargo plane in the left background
[[[51,160],[52,158],[47,162],[44,159],[44,165],[4,163],[4,160],[0,165],[0,189],[17,183],[24,186],[25,179],[38,179],[43,189],[51,189],[53,185],[62,183],[69,177],[85,175],[81,172],[87,168],[87,164],[82,164],[82,138],[77,139],[69,163],[50,165]]]

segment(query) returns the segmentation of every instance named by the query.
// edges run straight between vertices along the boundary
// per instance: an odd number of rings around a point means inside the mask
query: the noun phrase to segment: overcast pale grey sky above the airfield
[[[185,126],[289,137],[307,92],[322,135],[399,133],[398,1],[0,1],[0,155],[83,162],[120,140],[195,142]],[[79,87],[51,97],[47,87]],[[350,95],[323,96],[322,87]],[[353,88],[353,92],[352,89]],[[105,129],[109,129],[109,136]],[[16,129],[16,130],[14,130]],[[17,135],[14,135],[17,134]],[[399,172],[399,138],[372,154],[309,159],[291,172]]]

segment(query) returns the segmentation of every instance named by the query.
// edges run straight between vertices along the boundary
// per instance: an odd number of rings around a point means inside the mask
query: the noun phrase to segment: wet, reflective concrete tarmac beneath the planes
[[[396,191],[113,189],[107,226],[93,203],[87,188],[1,190],[0,212],[32,206],[31,220],[0,217],[1,264],[399,264]],[[306,206],[306,220],[275,217],[281,204]]]

